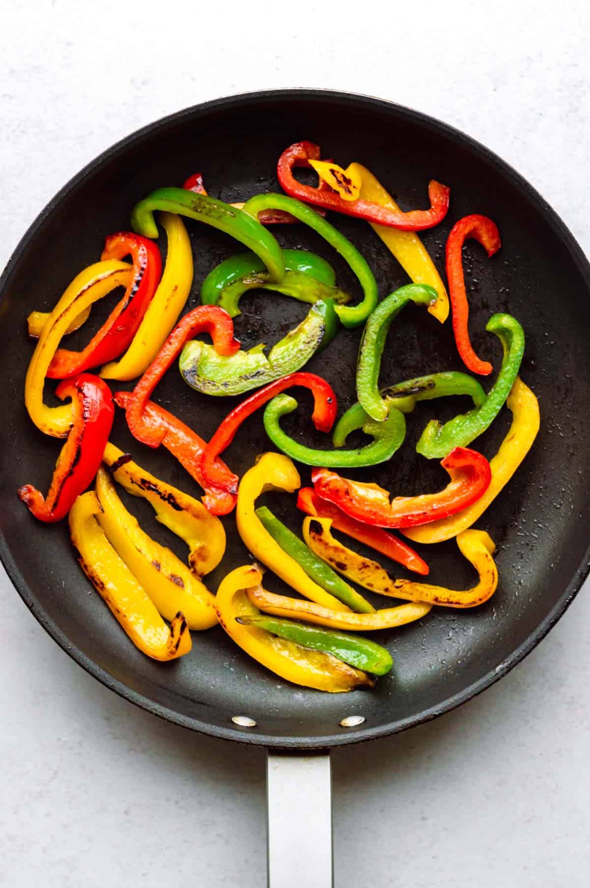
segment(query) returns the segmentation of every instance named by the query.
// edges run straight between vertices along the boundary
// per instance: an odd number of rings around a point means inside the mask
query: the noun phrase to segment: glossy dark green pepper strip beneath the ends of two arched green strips
[[[264,262],[254,253],[239,253],[225,259],[209,272],[201,287],[203,305],[219,305],[230,317],[240,314],[240,297],[248,289],[270,289],[311,304],[319,299],[349,302],[350,295],[335,286],[334,268],[326,259],[308,250],[283,250],[285,277],[269,281]]]

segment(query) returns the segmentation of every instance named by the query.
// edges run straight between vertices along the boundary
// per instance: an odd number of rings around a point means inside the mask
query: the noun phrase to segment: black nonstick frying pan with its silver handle
[[[486,321],[498,311],[521,321],[527,337],[522,376],[538,395],[541,408],[541,429],[531,453],[477,524],[498,545],[496,595],[473,611],[439,608],[401,630],[374,633],[372,638],[389,647],[395,665],[370,692],[321,694],[289,686],[233,646],[220,628],[194,633],[193,651],[178,662],[148,660],[92,591],[76,562],[66,524],[42,527],[16,496],[23,483],[47,488],[60,447],[58,441],[37,432],[24,408],[23,384],[32,353],[28,313],[34,308],[51,310],[75,274],[97,261],[105,235],[129,228],[131,208],[153,188],[181,185],[190,173],[201,171],[209,194],[228,202],[279,190],[277,158],[300,139],[318,142],[324,156],[343,165],[352,160],[364,163],[404,209],[427,203],[430,178],[451,186],[448,217],[442,226],[423,234],[441,270],[444,242],[454,221],[481,212],[497,222],[503,245],[496,257],[486,258],[474,242],[466,251],[470,329],[477,353],[497,367],[500,346],[484,332]],[[407,281],[366,223],[335,216],[332,220],[365,255],[382,297]],[[187,227],[195,261],[188,310],[198,304],[201,281],[211,267],[241,247],[197,222],[187,220]],[[275,226],[273,234],[287,247],[324,256],[334,265],[342,286],[359,297],[347,267],[311,231],[300,225]],[[165,249],[165,238],[161,241]],[[443,123],[380,99],[328,91],[268,91],[190,108],[100,155],[36,219],[15,250],[0,289],[0,554],[12,582],[52,638],[117,694],[178,725],[269,748],[272,884],[284,888],[295,884],[295,878],[307,886],[330,884],[327,759],[312,752],[402,731],[478,694],[546,635],[588,572],[590,266],[578,244],[523,178]],[[236,329],[246,348],[276,341],[306,312],[306,306],[295,300],[263,292],[244,297],[241,307]],[[105,314],[101,317],[100,309],[95,314],[92,322],[102,322]],[[70,347],[83,345],[89,330],[86,325],[74,334]],[[356,400],[359,337],[358,329],[341,329],[326,351],[307,365],[334,385],[341,410]],[[447,369],[460,369],[450,321],[441,326],[423,310],[406,308],[389,334],[382,380],[393,383]],[[154,397],[204,438],[239,400],[201,396],[175,371]],[[309,401],[299,393],[298,399],[297,418],[290,417],[292,424],[286,427],[300,440],[319,445],[321,438],[309,419]],[[459,401],[437,402],[436,410],[437,416],[448,418],[459,412]],[[375,480],[398,495],[442,486],[445,476],[437,461],[416,456],[413,448],[432,415],[432,403],[418,405],[409,417],[405,444],[390,464],[357,472],[357,477]],[[491,457],[508,424],[504,410],[477,440],[476,448]],[[148,470],[201,496],[168,452],[144,448],[130,437],[122,414],[116,417],[112,440]],[[227,451],[227,461],[241,473],[266,449],[270,447],[262,417],[253,416]],[[305,467],[302,477],[303,483],[309,483]],[[301,513],[292,498],[273,496],[270,503],[293,529],[300,527]],[[153,524],[144,505],[130,501],[148,532],[184,555],[177,539]],[[228,546],[222,567],[208,577],[212,590],[225,573],[248,561],[233,517],[224,519],[224,524]],[[467,587],[472,575],[455,543],[419,549],[429,561],[431,582]],[[396,572],[403,575],[397,568]],[[270,575],[265,584],[282,591]],[[287,797],[288,811],[282,807]],[[305,817],[295,816],[298,804],[305,805]],[[303,851],[304,836],[299,844],[295,836],[294,842],[293,830],[302,822],[315,831],[310,852]],[[281,836],[289,830],[288,847],[291,852],[297,849],[296,866],[287,858],[287,845],[281,844]]]

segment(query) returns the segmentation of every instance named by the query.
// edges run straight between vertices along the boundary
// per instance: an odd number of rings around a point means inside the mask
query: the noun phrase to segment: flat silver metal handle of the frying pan
[[[269,749],[268,888],[334,888],[330,753]]]

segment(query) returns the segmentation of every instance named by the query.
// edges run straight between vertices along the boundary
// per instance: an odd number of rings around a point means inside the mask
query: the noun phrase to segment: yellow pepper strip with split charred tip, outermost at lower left
[[[78,496],[69,513],[70,535],[84,574],[142,654],[161,661],[188,654],[192,641],[184,615],[176,614],[170,628],[166,625],[146,590],[106,539],[96,520],[99,513],[100,503],[93,491]]]

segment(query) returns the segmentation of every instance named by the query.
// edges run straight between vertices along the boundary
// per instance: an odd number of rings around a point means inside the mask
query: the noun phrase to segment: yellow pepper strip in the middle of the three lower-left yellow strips
[[[217,622],[215,599],[174,552],[156,543],[125,508],[106,468],[98,469],[96,492],[102,511],[98,523],[161,615],[185,614],[189,629],[209,629]]]

